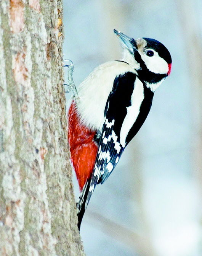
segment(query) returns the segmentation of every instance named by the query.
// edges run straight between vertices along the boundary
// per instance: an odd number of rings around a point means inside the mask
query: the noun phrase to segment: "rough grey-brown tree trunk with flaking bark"
[[[84,255],[65,132],[61,2],[0,1],[0,255]]]

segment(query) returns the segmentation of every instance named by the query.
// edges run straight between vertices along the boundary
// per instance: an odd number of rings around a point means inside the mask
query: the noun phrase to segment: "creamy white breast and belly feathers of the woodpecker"
[[[106,62],[90,73],[80,84],[80,101],[77,110],[83,124],[92,130],[101,130],[104,123],[104,109],[117,75],[126,72],[135,73],[134,68],[124,62]]]

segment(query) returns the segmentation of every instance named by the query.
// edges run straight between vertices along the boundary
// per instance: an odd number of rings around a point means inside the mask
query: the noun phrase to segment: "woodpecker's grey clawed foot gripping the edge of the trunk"
[[[67,83],[64,83],[64,86],[66,86],[65,93],[69,93],[71,90],[74,93],[75,101],[79,101],[79,95],[77,93],[77,88],[75,86],[74,80],[73,80],[73,72],[74,72],[74,64],[71,60],[63,60],[64,66],[68,68],[68,76],[67,76]]]

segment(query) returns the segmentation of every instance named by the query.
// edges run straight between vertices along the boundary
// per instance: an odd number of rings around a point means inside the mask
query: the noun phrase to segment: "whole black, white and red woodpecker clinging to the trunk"
[[[68,113],[71,161],[79,182],[78,227],[90,197],[119,162],[143,125],[154,91],[170,74],[171,56],[155,39],[137,40],[114,29],[123,59],[106,62],[81,83]]]

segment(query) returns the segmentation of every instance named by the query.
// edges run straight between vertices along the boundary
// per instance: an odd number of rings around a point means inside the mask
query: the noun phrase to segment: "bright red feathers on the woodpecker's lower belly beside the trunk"
[[[80,122],[75,102],[69,108],[68,113],[68,140],[71,152],[71,161],[82,191],[87,179],[91,177],[98,146],[93,138],[96,131],[91,131]]]

